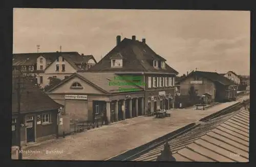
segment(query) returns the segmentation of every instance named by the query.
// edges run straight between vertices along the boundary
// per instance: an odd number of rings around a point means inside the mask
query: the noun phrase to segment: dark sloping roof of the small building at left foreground
[[[12,113],[17,112],[17,83],[20,75],[20,112],[37,112],[58,109],[62,105],[53,101],[47,94],[42,92],[39,86],[33,84],[20,72],[12,73]]]

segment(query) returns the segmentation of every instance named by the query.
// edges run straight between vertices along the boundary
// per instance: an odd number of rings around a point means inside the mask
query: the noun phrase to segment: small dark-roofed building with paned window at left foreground
[[[12,73],[12,145],[17,146],[16,120],[18,114],[17,83],[20,72]],[[62,105],[54,102],[24,76],[20,77],[20,129],[22,145],[53,137],[58,131],[57,114]]]

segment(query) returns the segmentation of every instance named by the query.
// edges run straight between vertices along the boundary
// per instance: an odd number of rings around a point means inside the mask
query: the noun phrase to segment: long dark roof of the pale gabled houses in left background
[[[77,64],[79,64],[78,62],[87,63],[90,59],[93,59],[95,63],[97,63],[93,55],[80,55],[77,52],[46,52],[13,54],[13,65],[35,65],[37,57],[39,56],[45,57],[47,62],[49,62],[47,63],[46,69],[55,62],[59,56],[64,57],[76,70],[81,69],[77,66]]]

